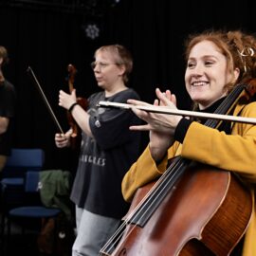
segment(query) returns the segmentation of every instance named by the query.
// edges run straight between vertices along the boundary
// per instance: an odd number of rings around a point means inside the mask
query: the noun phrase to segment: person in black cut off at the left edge
[[[0,46],[0,172],[10,155],[12,121],[15,111],[15,89],[5,79],[3,66],[9,62],[6,47]]]

